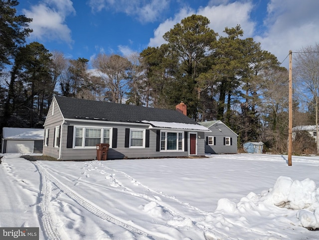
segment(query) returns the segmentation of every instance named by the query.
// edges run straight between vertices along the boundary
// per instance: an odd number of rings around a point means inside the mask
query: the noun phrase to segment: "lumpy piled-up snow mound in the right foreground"
[[[300,226],[309,230],[319,229],[319,188],[309,178],[293,181],[290,177],[280,176],[272,189],[260,195],[251,192],[238,204],[220,199],[215,213],[264,216],[274,207],[296,211]]]

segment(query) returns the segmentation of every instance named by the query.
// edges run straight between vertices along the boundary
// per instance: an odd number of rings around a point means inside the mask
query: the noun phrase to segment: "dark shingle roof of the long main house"
[[[176,110],[146,108],[85,99],[55,96],[65,119],[86,119],[120,122],[164,121],[198,124]]]

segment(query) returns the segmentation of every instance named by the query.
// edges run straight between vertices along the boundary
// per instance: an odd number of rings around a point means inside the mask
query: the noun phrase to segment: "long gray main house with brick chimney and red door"
[[[108,143],[107,159],[203,156],[210,130],[175,110],[54,96],[44,122],[43,155],[59,160],[95,159]]]

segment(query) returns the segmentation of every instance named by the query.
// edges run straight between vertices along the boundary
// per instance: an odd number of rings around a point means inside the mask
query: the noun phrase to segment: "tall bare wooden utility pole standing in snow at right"
[[[292,166],[293,151],[293,52],[289,51],[289,124],[288,124],[288,166]]]

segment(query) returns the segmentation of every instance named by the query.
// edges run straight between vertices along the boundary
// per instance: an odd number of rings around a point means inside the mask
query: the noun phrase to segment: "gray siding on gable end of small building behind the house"
[[[215,123],[209,129],[212,132],[205,133],[205,153],[211,154],[227,154],[227,153],[237,153],[237,135],[230,130],[223,123]],[[220,131],[220,130],[221,131]],[[206,143],[207,136],[216,137],[215,145],[208,145]],[[224,145],[224,137],[232,138],[232,145]]]

